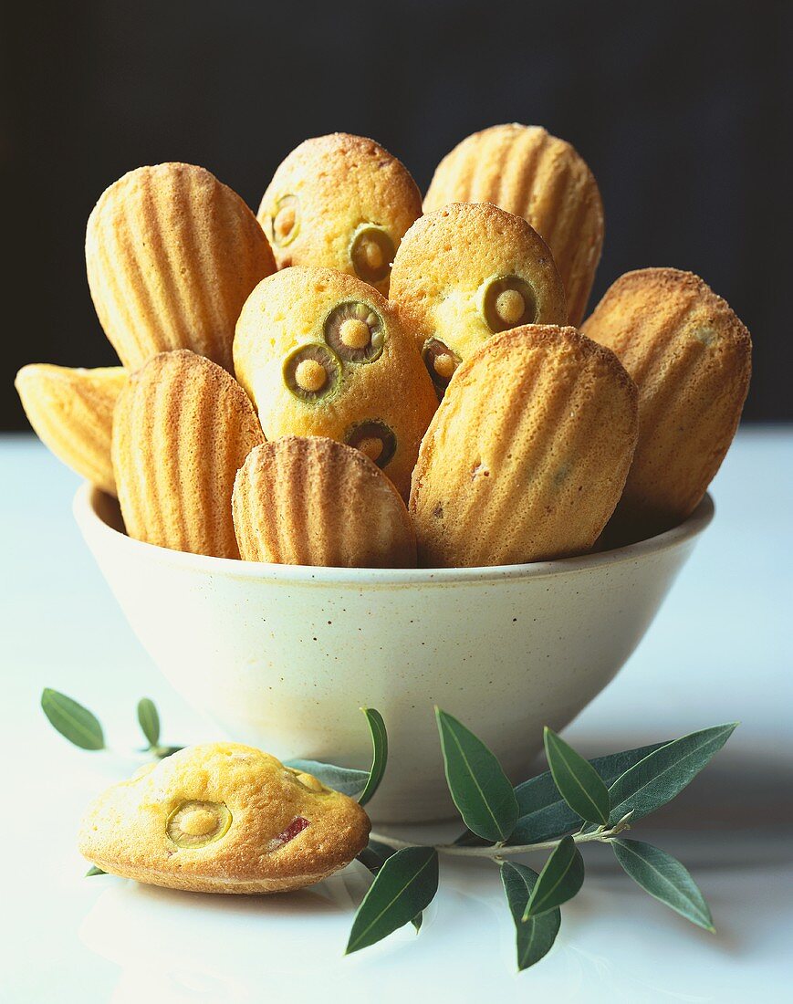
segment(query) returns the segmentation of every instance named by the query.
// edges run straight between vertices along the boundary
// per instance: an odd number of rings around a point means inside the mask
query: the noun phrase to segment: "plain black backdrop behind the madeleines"
[[[82,242],[125,171],[201,164],[255,210],[294,146],[343,130],[425,189],[459,140],[511,120],[598,179],[590,306],[630,268],[700,273],[754,336],[747,418],[793,418],[793,3],[0,4],[0,429],[26,428],[24,362],[113,361]]]

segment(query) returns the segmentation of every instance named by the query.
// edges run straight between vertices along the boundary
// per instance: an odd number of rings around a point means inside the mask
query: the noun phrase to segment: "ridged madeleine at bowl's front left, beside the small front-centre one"
[[[112,465],[126,532],[175,551],[238,558],[234,478],[264,442],[245,392],[186,348],[156,355],[121,392]]]

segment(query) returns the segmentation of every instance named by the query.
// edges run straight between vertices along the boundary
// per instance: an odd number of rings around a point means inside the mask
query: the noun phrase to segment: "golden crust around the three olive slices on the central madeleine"
[[[327,350],[326,321],[340,304],[359,303],[378,318],[384,340],[369,362],[344,361],[332,353],[334,384],[304,400],[290,390],[284,364],[302,346]],[[298,355],[295,355],[298,353]],[[435,390],[412,335],[395,308],[354,276],[325,268],[284,269],[254,289],[240,314],[234,339],[237,379],[253,399],[268,440],[282,436],[326,436],[345,442],[382,423],[393,451],[378,466],[407,498],[422,436],[438,406]]]

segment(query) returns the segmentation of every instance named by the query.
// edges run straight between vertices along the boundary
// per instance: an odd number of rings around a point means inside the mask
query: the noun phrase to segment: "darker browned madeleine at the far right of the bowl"
[[[583,330],[638,388],[639,437],[609,534],[651,536],[697,508],[735,436],[752,339],[691,272],[644,268],[608,289]]]

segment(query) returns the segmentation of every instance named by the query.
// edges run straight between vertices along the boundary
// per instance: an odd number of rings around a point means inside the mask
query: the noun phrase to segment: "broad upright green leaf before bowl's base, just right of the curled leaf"
[[[501,764],[462,722],[440,708],[435,714],[446,780],[463,821],[486,840],[506,840],[518,818],[518,803]]]

